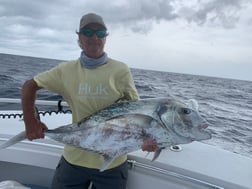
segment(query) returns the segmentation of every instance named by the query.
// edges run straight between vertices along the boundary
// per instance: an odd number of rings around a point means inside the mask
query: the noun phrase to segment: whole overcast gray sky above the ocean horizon
[[[0,52],[76,59],[89,12],[131,68],[252,81],[252,0],[0,0]]]

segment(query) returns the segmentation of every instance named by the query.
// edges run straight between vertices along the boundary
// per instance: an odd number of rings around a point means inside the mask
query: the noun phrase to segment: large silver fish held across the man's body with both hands
[[[143,140],[153,138],[158,149],[211,138],[208,123],[198,112],[195,100],[182,103],[169,98],[122,101],[73,123],[45,131],[56,141],[101,154],[105,170],[115,158],[139,150]],[[0,146],[6,148],[25,139],[25,132]]]

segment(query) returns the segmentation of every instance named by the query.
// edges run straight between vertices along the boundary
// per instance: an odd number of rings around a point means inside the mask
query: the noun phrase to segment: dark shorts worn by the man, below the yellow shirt
[[[51,189],[126,189],[127,162],[113,169],[100,172],[98,169],[80,167],[61,158],[52,181]]]

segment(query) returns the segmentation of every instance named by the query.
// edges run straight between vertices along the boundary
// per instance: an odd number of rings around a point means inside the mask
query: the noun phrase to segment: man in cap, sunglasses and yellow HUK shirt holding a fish
[[[119,99],[138,100],[133,78],[126,64],[108,58],[104,52],[107,27],[94,13],[80,20],[78,39],[82,49],[77,60],[63,62],[24,83],[22,105],[26,135],[29,140],[43,138],[47,126],[35,117],[36,92],[42,88],[63,96],[72,110],[72,121],[78,122]],[[143,150],[154,151],[155,142],[146,140]],[[52,189],[88,188],[125,189],[127,182],[126,156],[117,158],[104,172],[100,155],[65,145],[56,168]]]

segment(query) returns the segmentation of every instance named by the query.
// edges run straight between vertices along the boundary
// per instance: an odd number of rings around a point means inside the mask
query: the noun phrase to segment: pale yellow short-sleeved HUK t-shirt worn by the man
[[[39,87],[63,96],[72,110],[73,122],[113,104],[118,99],[137,100],[138,94],[128,66],[108,59],[95,69],[84,68],[79,60],[60,63],[58,66],[34,77]],[[97,153],[65,145],[64,158],[74,165],[99,169],[103,157]],[[113,168],[126,160],[117,158]]]

